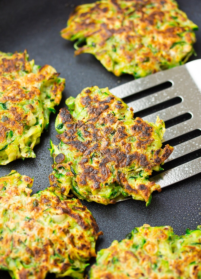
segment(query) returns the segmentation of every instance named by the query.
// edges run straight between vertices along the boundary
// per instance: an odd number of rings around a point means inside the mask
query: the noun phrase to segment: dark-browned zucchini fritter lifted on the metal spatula
[[[55,123],[61,143],[50,141],[50,184],[66,196],[71,190],[88,201],[115,203],[114,198],[123,194],[148,205],[151,193],[161,191],[148,176],[161,170],[173,150],[169,145],[161,149],[164,122],[133,118],[133,109],[127,110],[108,88],[85,88],[66,104],[70,111],[62,108]]]

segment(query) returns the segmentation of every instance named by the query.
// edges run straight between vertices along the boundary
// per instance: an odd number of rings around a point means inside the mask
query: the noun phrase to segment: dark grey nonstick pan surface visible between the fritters
[[[74,8],[89,2],[93,1],[0,1],[0,50],[15,52],[27,49],[30,60],[34,59],[41,66],[53,66],[66,79],[66,88],[61,104],[56,108],[57,113],[59,108],[65,106],[67,97],[76,96],[87,86],[113,88],[133,80],[129,75],[115,77],[90,54],[74,57],[73,43],[59,35]],[[201,1],[178,0],[178,4],[189,19],[200,27],[196,31],[197,42],[194,45],[197,57],[193,55],[189,61],[201,58]],[[15,169],[20,174],[34,177],[34,192],[49,186],[48,175],[52,172],[53,163],[48,150],[50,138],[58,143],[55,119],[56,115],[52,114],[48,132],[42,134],[40,144],[34,148],[37,157],[0,166],[0,176]],[[190,156],[195,158],[200,155],[201,152],[197,151]],[[185,160],[188,158],[181,158],[181,163]],[[201,225],[201,174],[163,188],[160,193],[153,193],[151,205],[147,208],[145,202],[132,199],[107,206],[86,201],[83,204],[92,212],[99,229],[104,232],[104,236],[100,236],[97,241],[97,251],[108,247],[114,239],[125,238],[134,227],[145,223],[151,226],[170,225],[176,234],[184,234],[186,228],[195,229]],[[10,276],[7,272],[0,271],[0,279],[8,278]],[[49,274],[47,278],[53,279],[55,275]]]

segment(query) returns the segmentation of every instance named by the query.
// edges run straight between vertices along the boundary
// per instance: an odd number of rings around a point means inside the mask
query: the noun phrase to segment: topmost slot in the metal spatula
[[[170,88],[171,86],[172,86],[172,82],[170,82],[170,81],[163,82],[159,85],[150,87],[148,89],[145,89],[145,90],[139,91],[137,93],[133,93],[133,94],[127,96],[127,97],[124,97],[123,100],[124,100],[125,103],[129,103],[129,102],[141,99],[145,96],[149,96],[153,93],[156,93],[156,92],[165,90],[167,88]]]

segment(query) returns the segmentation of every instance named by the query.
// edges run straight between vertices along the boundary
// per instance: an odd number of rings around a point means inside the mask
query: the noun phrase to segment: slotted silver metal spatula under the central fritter
[[[167,82],[170,85],[169,88],[157,91],[157,86],[167,85]],[[128,99],[128,96],[132,95],[135,98],[139,96],[139,92],[143,94],[149,88],[152,88],[152,91],[156,89],[156,92],[128,103],[129,107],[134,109],[134,116],[138,116],[138,112],[143,111],[145,114],[143,116],[144,120],[155,122],[158,115],[165,122],[173,123],[164,134],[164,141],[167,141],[167,143],[181,136],[188,138],[189,133],[191,133],[191,139],[175,146],[172,144],[174,151],[165,161],[163,165],[165,169],[167,162],[184,155],[190,157],[191,152],[201,148],[201,59],[127,82],[110,89],[110,92],[122,99]],[[175,100],[179,103],[173,104]],[[168,107],[161,110],[160,105],[164,105],[166,101]],[[159,106],[159,110],[146,115],[145,110],[150,111],[150,108],[156,105]],[[190,116],[190,119],[185,120],[186,114]],[[174,119],[180,118],[181,120],[182,117],[184,121],[174,124]],[[156,181],[163,188],[200,172],[201,157],[157,174],[151,177],[150,181]],[[128,198],[118,198],[117,201]]]

